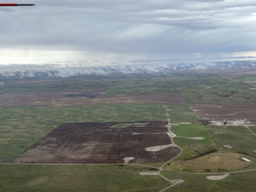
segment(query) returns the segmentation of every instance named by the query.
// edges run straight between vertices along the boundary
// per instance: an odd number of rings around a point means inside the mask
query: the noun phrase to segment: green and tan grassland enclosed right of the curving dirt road
[[[251,129],[254,130],[255,127],[252,126]],[[177,136],[204,137],[205,139],[174,138],[175,144],[183,149],[183,154],[171,164],[166,165],[165,169],[195,172],[206,169],[217,171],[218,168],[224,170],[256,168],[254,152],[256,136],[244,126],[180,124],[172,126],[172,131]],[[225,148],[224,145],[229,145],[232,148]],[[209,148],[216,148],[218,152],[193,158]],[[240,157],[249,158],[252,162],[241,162]],[[191,160],[187,160],[188,158]]]

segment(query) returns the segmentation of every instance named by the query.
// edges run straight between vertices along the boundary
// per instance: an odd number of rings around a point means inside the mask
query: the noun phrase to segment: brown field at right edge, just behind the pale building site
[[[202,103],[189,104],[199,118],[255,119],[256,103]]]

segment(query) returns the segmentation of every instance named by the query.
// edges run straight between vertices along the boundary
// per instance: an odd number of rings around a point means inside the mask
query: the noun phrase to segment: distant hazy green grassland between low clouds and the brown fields
[[[0,93],[109,89],[107,95],[151,92],[180,92],[187,103],[255,102],[255,83],[247,83],[255,76],[186,75],[152,78],[82,79],[71,82],[13,83],[0,86]]]

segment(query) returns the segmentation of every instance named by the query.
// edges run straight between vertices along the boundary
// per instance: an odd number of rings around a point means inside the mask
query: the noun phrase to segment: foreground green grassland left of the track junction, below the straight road
[[[157,175],[139,174],[151,172],[148,169],[132,165],[1,165],[0,191],[159,191],[168,186]]]

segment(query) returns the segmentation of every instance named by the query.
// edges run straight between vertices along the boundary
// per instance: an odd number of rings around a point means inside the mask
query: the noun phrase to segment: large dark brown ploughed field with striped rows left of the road
[[[11,163],[49,164],[106,164],[131,162],[165,162],[179,154],[180,149],[169,147],[159,151],[146,151],[152,146],[171,144],[166,122],[140,122],[126,128],[109,128],[111,123],[66,123],[29,147]],[[140,133],[140,134],[134,134]]]

